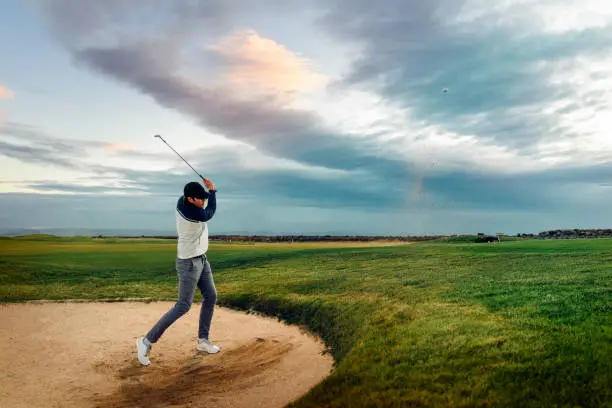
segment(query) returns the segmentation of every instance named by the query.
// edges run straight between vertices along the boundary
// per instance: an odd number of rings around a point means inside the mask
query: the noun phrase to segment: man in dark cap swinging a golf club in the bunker
[[[212,181],[203,179],[206,191],[198,182],[187,183],[183,195],[176,203],[176,230],[178,235],[176,272],[178,277],[178,301],[151,330],[136,340],[138,360],[149,365],[152,345],[164,331],[191,308],[196,286],[202,293],[197,349],[217,353],[220,348],[208,340],[217,290],[206,251],[208,250],[208,221],[217,209],[217,190]],[[208,205],[206,205],[208,201]],[[206,207],[206,208],[204,208]]]

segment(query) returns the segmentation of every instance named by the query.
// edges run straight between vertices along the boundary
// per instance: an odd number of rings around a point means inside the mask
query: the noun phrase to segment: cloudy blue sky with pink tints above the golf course
[[[610,228],[604,0],[5,0],[0,229]]]

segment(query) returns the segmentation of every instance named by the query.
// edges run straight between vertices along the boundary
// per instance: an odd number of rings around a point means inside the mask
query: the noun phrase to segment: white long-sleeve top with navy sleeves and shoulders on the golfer
[[[217,210],[216,191],[210,191],[205,208],[181,196],[176,203],[177,258],[187,259],[208,251],[208,221]]]

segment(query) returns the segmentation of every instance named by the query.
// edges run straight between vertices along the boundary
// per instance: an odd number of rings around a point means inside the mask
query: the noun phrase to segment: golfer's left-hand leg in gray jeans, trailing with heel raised
[[[147,333],[146,339],[149,342],[156,343],[172,323],[189,311],[193,302],[196,284],[202,273],[201,265],[201,261],[197,259],[176,260],[176,271],[179,281],[178,301]]]

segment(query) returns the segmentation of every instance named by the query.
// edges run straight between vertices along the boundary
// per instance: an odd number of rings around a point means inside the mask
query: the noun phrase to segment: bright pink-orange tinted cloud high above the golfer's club
[[[223,79],[234,88],[261,93],[309,92],[327,81],[311,61],[252,30],[223,37],[208,49],[220,58]]]

